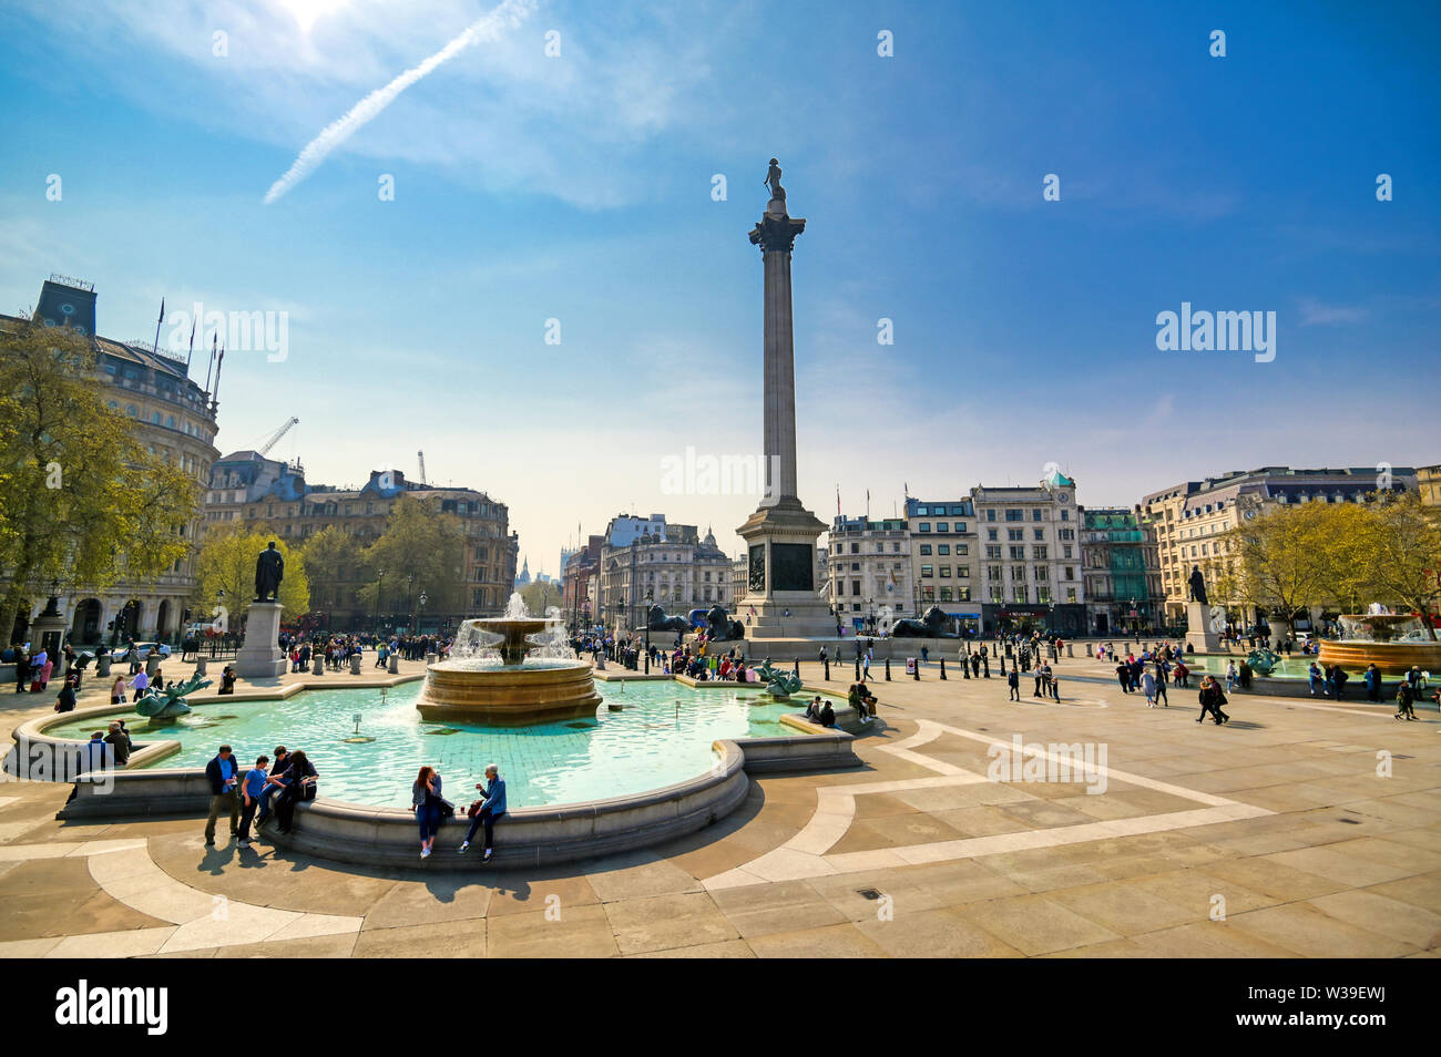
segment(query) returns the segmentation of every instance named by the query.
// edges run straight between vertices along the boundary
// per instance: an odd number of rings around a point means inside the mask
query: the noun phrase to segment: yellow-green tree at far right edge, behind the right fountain
[[[1406,492],[1369,504],[1355,550],[1359,575],[1373,601],[1399,602],[1421,613],[1432,641],[1431,609],[1441,599],[1441,511]]]

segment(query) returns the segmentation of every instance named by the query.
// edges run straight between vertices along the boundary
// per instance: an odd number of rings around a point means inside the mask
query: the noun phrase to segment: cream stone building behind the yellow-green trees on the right
[[[1140,505],[1141,514],[1150,518],[1156,531],[1166,622],[1180,625],[1186,621],[1187,585],[1193,566],[1210,573],[1206,576],[1208,583],[1216,580],[1223,566],[1233,566],[1228,541],[1218,537],[1235,528],[1242,518],[1295,503],[1363,503],[1380,487],[1395,492],[1415,488],[1417,477],[1411,467],[1395,467],[1386,478],[1372,467],[1261,467],[1233,469],[1205,481],[1183,481],[1150,492]],[[1267,615],[1255,612],[1239,599],[1210,601],[1225,606],[1232,622],[1241,626],[1267,621]],[[1319,619],[1320,612],[1311,616]],[[1307,631],[1308,624],[1303,618],[1297,628]]]

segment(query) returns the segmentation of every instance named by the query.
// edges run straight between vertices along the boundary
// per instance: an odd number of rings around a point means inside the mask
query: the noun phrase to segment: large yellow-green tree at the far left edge
[[[112,412],[81,334],[23,320],[0,333],[0,631],[30,590],[102,588],[183,559],[199,482],[150,455]],[[46,592],[49,593],[49,592]]]

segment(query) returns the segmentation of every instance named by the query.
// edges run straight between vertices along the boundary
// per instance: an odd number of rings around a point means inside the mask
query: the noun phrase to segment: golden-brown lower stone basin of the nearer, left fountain
[[[595,714],[601,696],[584,661],[471,668],[448,661],[425,671],[415,701],[431,723],[517,726]]]

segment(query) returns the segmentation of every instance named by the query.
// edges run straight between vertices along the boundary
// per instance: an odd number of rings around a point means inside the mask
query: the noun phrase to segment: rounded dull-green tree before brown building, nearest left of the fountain
[[[465,605],[464,565],[465,530],[460,518],[402,495],[391,510],[385,531],[365,550],[366,573],[375,582],[359,590],[360,601],[379,609],[383,589],[392,608],[403,603],[405,612],[415,618],[424,592],[429,612],[458,612]]]

